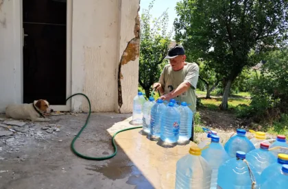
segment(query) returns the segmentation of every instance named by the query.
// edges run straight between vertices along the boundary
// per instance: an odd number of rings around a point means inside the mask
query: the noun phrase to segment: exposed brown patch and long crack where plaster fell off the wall
[[[140,4],[140,1],[139,1]],[[123,55],[121,56],[121,60],[119,63],[119,69],[118,69],[118,112],[121,113],[121,106],[123,105],[123,99],[122,99],[122,88],[121,88],[121,79],[123,79],[123,75],[121,73],[121,66],[124,64],[128,64],[130,61],[136,60],[136,58],[139,58],[140,53],[140,17],[139,17],[139,9],[137,10],[137,15],[135,18],[135,26],[134,26],[134,35],[135,37],[128,42],[127,47],[125,48],[125,51],[123,52]]]

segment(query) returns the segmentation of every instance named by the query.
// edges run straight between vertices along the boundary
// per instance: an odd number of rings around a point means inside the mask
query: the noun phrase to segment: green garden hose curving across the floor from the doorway
[[[112,146],[113,146],[113,148],[114,148],[114,153],[112,153],[111,155],[104,156],[104,157],[90,157],[90,156],[83,155],[83,154],[81,154],[81,153],[79,153],[79,152],[76,151],[76,149],[75,149],[75,147],[74,147],[74,143],[75,143],[75,141],[77,140],[77,138],[81,135],[82,131],[86,128],[86,126],[87,126],[87,124],[88,124],[88,121],[89,121],[89,118],[90,118],[90,115],[91,115],[91,102],[90,102],[89,98],[88,98],[86,95],[82,94],[82,93],[76,93],[76,94],[74,94],[74,95],[71,95],[68,99],[66,99],[66,101],[68,101],[69,99],[71,99],[71,97],[74,97],[74,96],[76,96],[76,95],[83,95],[84,97],[86,97],[86,99],[87,99],[87,101],[88,101],[88,103],[89,103],[89,113],[88,113],[88,116],[87,116],[87,118],[86,118],[86,122],[85,122],[84,126],[82,127],[82,129],[81,129],[81,130],[79,131],[79,133],[75,136],[75,138],[73,138],[73,140],[72,140],[72,142],[71,142],[71,149],[72,149],[73,153],[75,153],[75,155],[77,155],[78,157],[82,157],[82,158],[84,158],[84,159],[86,159],[86,160],[108,160],[108,159],[114,157],[114,156],[117,154],[117,146],[116,146],[115,140],[114,140],[114,138],[115,138],[115,136],[117,136],[117,134],[119,134],[119,133],[121,133],[121,132],[123,132],[123,131],[131,130],[131,129],[139,129],[139,128],[142,128],[142,126],[139,126],[139,127],[130,127],[130,128],[127,128],[127,129],[122,129],[122,130],[120,130],[120,131],[117,131],[117,132],[113,135],[113,137],[112,137]]]

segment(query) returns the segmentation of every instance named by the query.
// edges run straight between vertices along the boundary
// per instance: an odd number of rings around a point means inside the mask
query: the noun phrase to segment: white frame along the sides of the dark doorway
[[[23,0],[16,0],[20,7],[20,25],[21,25],[21,102],[23,103],[23,44],[24,44],[24,29],[23,29]],[[16,11],[16,10],[15,10]],[[66,23],[66,98],[71,95],[71,74],[72,74],[72,11],[73,0],[67,0],[67,23]],[[71,100],[67,101],[66,105],[51,105],[54,111],[71,111]]]

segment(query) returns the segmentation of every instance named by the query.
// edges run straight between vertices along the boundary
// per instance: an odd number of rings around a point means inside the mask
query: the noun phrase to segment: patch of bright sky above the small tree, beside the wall
[[[149,3],[152,0],[141,0],[140,1],[140,11],[139,14],[142,14],[143,9],[147,9]],[[155,0],[154,6],[150,11],[153,18],[158,18],[167,8],[168,8],[168,15],[169,15],[169,23],[167,31],[170,31],[173,27],[174,19],[176,18],[176,3],[180,0]]]

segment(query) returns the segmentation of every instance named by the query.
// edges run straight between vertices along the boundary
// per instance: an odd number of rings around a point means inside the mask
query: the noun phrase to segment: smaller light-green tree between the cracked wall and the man
[[[167,63],[164,58],[171,42],[171,31],[167,32],[168,13],[165,11],[159,18],[152,20],[149,12],[153,3],[154,1],[141,14],[139,84],[145,90],[146,97],[150,96],[152,84],[158,81],[163,66]]]

